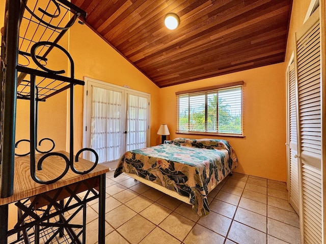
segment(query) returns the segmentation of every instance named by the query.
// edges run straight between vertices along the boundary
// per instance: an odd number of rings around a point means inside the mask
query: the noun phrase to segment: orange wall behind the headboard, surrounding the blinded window
[[[236,172],[286,181],[286,117],[284,64],[276,64],[228,75],[203,79],[160,89],[160,121],[168,124],[170,139],[202,138],[198,135],[176,134],[175,93],[216,84],[244,81],[244,138],[226,139],[234,147],[239,167]]]

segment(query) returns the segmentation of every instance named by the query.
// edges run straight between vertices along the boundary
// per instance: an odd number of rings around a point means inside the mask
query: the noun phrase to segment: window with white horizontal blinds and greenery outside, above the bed
[[[177,133],[242,135],[243,81],[177,95]]]

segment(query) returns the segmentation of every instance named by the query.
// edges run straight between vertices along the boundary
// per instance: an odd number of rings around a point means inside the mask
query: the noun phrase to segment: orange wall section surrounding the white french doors
[[[159,88],[132,66],[88,26],[70,28],[69,52],[75,62],[75,78],[84,76],[151,94],[151,145],[159,127]],[[75,150],[83,144],[83,86],[75,86]]]

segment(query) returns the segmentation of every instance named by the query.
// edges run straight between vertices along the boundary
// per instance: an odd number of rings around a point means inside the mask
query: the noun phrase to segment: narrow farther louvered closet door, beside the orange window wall
[[[294,63],[289,69],[289,200],[297,214],[299,214],[299,180],[296,140],[296,96],[295,96],[295,69]]]

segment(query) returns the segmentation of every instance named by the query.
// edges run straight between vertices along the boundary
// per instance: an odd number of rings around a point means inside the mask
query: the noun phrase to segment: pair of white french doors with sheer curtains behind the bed
[[[127,150],[149,146],[150,95],[85,77],[84,147],[99,163],[115,164]],[[92,153],[85,159],[94,161]]]

